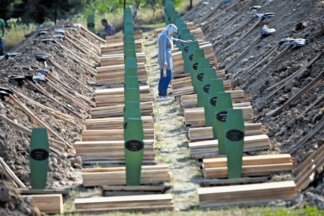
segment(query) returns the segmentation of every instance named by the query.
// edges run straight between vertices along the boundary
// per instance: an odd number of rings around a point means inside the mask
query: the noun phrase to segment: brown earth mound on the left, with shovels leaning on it
[[[41,39],[46,38],[55,39],[53,35],[57,35],[59,33],[55,32],[54,29],[64,28],[86,46],[92,46],[92,42],[90,44],[88,38],[82,37],[78,32],[68,28],[67,26],[71,27],[73,24],[62,21],[53,27],[48,27],[45,34],[37,35],[33,39],[30,38],[32,38],[32,35],[34,35],[35,32],[31,32],[30,35],[27,35],[27,40],[20,47],[20,51],[17,56],[7,59],[2,65],[0,65],[0,87],[12,88],[15,95],[34,115],[36,115],[43,123],[51,128],[57,135],[62,137],[65,142],[73,146],[74,141],[81,140],[80,135],[81,131],[84,129],[84,124],[81,123],[81,121],[79,121],[78,118],[76,118],[73,114],[71,114],[71,112],[68,112],[65,108],[63,108],[63,106],[70,108],[83,119],[89,117],[88,110],[62,97],[56,91],[54,91],[51,86],[45,83],[39,83],[39,85],[53,95],[56,100],[52,100],[40,93],[30,84],[28,84],[27,81],[22,81],[19,83],[9,79],[11,76],[17,75],[37,75],[38,69],[50,70],[53,75],[74,90],[74,93],[72,94],[75,95],[75,98],[78,98],[76,94],[80,94],[84,98],[94,101],[93,92],[86,90],[71,77],[64,75],[64,73],[59,71],[58,68],[55,67],[50,61],[47,61],[48,66],[45,67],[43,62],[34,59],[36,55],[49,56],[54,62],[64,68],[73,77],[77,78],[78,81],[81,81],[92,89],[92,86],[94,86],[95,83],[95,78],[93,75],[90,75],[88,71],[86,71],[80,64],[70,59],[65,52],[59,49],[59,47],[50,45],[51,43],[42,43],[41,41]],[[79,53],[81,58],[84,60],[95,64],[95,62],[89,59],[85,54],[80,54],[81,51],[72,46],[67,40],[55,40],[72,52]],[[58,84],[58,86],[63,89],[60,84]],[[42,105],[72,116],[72,118],[69,120],[73,123],[70,124],[61,119],[54,118],[54,115],[50,115],[49,111],[40,108],[38,105],[31,103],[20,95],[24,95]],[[91,107],[90,104],[88,104],[88,106]],[[21,108],[18,108],[9,97],[3,97],[0,100],[0,113],[29,130],[31,130],[33,127],[39,127],[39,125],[37,125],[35,121],[32,120],[32,118],[29,117]],[[52,138],[59,140],[57,136],[52,136]],[[6,121],[4,121],[3,118],[0,118],[0,156],[27,187],[30,185],[28,149],[28,135],[9,125]],[[58,149],[54,150],[55,152],[52,151],[49,158],[47,188],[57,189],[80,185],[81,178],[78,176],[78,174],[76,174],[75,169],[81,168],[81,159],[76,158],[75,150],[66,145],[59,146]],[[4,179],[4,175],[2,173],[0,174],[0,179]]]

